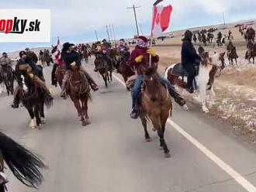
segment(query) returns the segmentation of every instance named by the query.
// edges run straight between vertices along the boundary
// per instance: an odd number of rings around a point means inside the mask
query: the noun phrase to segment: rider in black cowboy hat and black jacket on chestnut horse
[[[97,91],[99,89],[99,86],[95,83],[95,81],[92,79],[92,77],[86,72],[84,67],[81,66],[81,60],[79,57],[79,54],[74,51],[74,44],[72,43],[64,43],[63,48],[61,50],[61,59],[64,61],[65,65],[65,74],[64,79],[62,83],[62,91],[61,91],[61,97],[66,98],[67,95],[67,80],[71,76],[71,66],[75,65],[78,67],[78,70],[81,70],[86,78],[88,79],[88,83],[92,87],[93,91]]]

